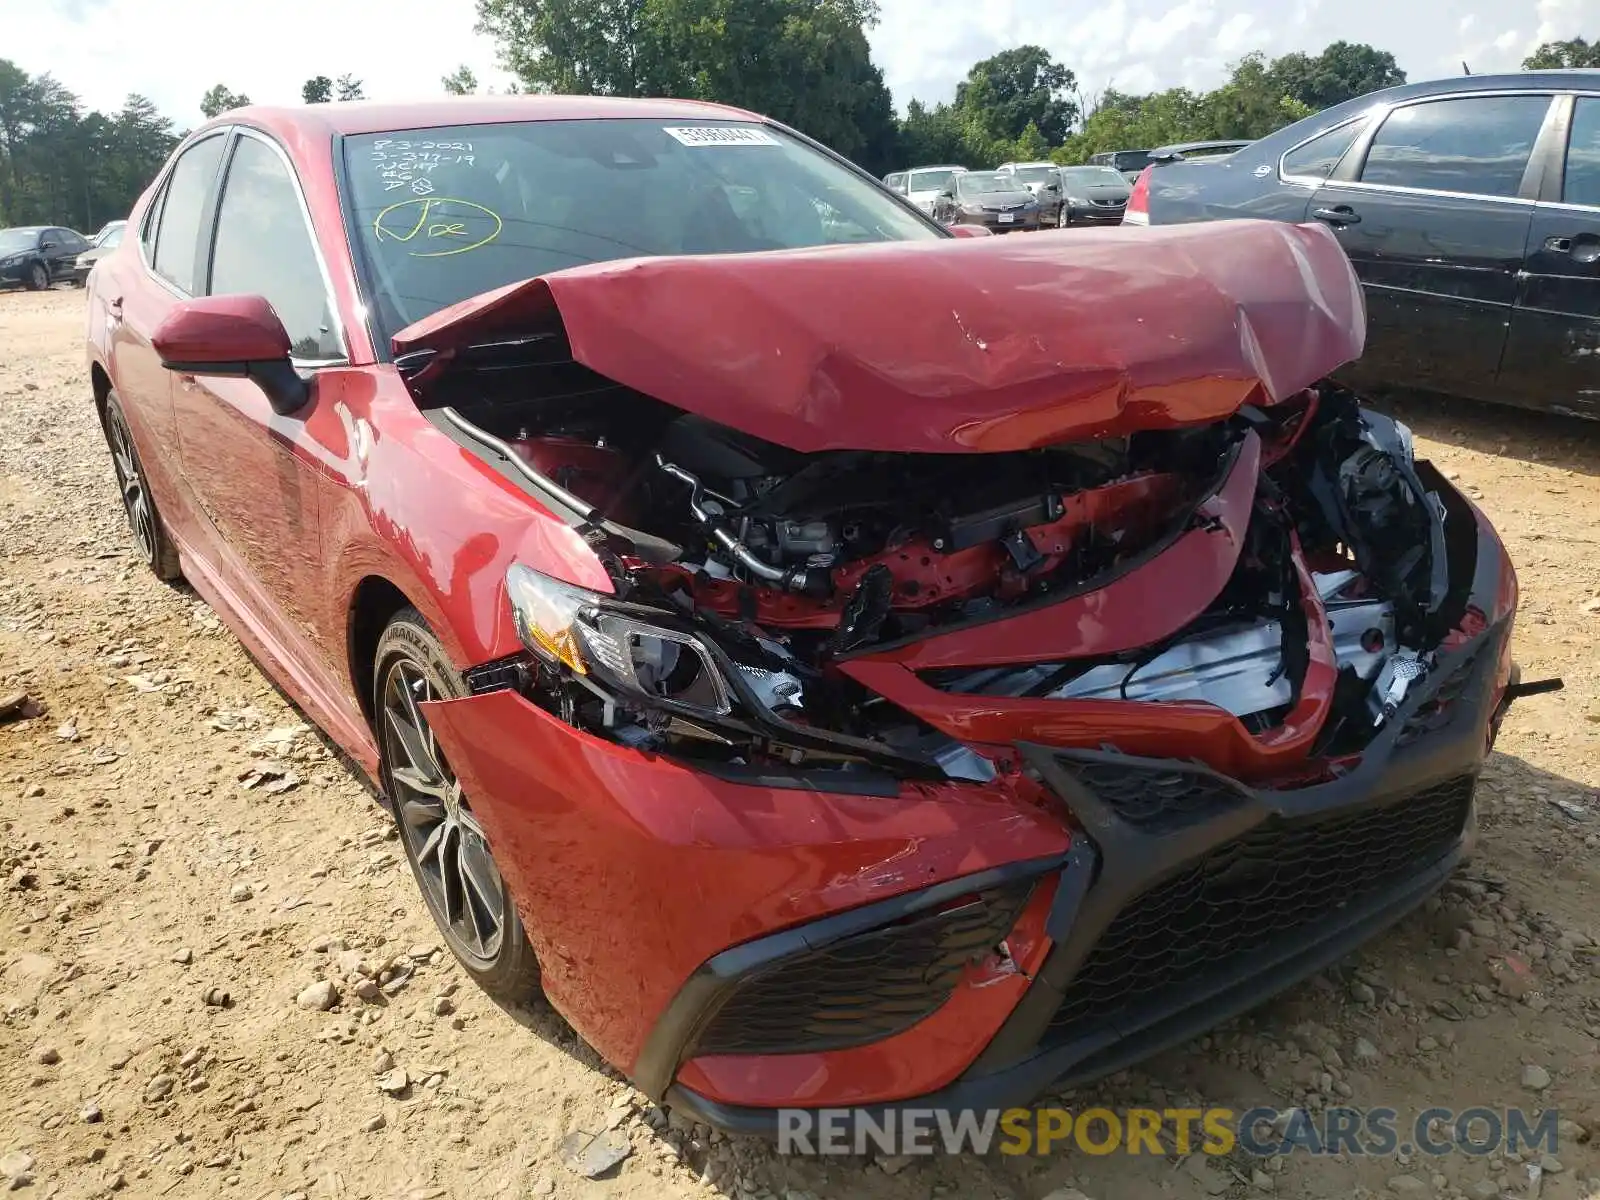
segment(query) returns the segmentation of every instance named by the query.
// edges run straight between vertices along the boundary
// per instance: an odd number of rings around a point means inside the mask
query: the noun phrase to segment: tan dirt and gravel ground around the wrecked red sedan
[[[1576,1122],[1562,1126],[1557,1160],[1072,1152],[824,1163],[669,1123],[558,1018],[507,1014],[466,986],[435,950],[371,794],[194,594],[136,562],[82,333],[82,291],[0,294],[0,696],[26,691],[48,707],[0,723],[0,1190],[1600,1192],[1600,426],[1402,405],[1419,453],[1506,534],[1522,574],[1525,677],[1566,680],[1506,725],[1480,789],[1480,856],[1355,958],[1067,1098],[1557,1107]],[[387,981],[376,1002],[354,995],[352,970]],[[296,1003],[320,979],[344,990],[331,1013]],[[608,1125],[632,1146],[619,1170],[587,1181],[562,1165],[565,1133]]]

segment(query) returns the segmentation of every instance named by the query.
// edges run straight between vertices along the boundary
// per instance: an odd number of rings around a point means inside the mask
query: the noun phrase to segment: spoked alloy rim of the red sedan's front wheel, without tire
[[[506,886],[434,731],[419,709],[435,699],[422,669],[397,659],[382,690],[384,762],[400,835],[427,901],[458,954],[490,963],[506,933]]]

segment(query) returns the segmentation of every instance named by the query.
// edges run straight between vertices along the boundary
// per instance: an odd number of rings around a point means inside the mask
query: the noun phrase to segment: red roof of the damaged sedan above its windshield
[[[330,104],[251,104],[226,112],[205,128],[235,123],[259,125],[272,133],[341,136],[427,130],[442,125],[502,125],[509,122],[562,122],[595,118],[642,120],[739,120],[766,118],[726,104],[701,101],[640,99],[632,96],[450,96],[445,99],[387,104],[381,101],[333,101]]]

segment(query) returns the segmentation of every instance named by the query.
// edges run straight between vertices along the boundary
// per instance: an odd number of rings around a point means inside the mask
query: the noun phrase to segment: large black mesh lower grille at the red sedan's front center
[[[1208,971],[1379,891],[1461,835],[1472,778],[1387,808],[1314,824],[1274,822],[1210,851],[1136,898],[1107,926],[1051,1019],[1051,1032],[1158,1000]]]

